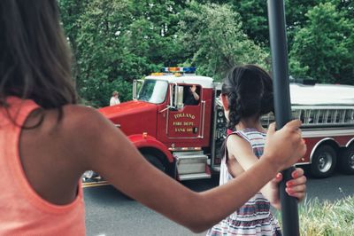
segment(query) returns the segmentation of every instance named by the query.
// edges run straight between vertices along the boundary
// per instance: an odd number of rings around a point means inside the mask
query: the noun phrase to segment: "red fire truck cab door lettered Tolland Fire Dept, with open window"
[[[184,84],[178,86],[179,101],[175,109],[168,110],[167,138],[203,138],[204,109],[203,90],[200,85]],[[193,96],[195,88],[198,99]]]

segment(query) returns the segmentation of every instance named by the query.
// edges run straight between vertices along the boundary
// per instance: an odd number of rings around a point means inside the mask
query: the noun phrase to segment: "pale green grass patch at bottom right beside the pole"
[[[354,197],[340,201],[313,199],[299,205],[300,235],[354,235]],[[276,214],[281,222],[281,214]]]

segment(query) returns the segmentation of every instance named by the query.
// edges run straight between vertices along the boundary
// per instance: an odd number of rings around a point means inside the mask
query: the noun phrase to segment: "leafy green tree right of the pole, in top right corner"
[[[354,21],[336,11],[334,4],[319,4],[308,13],[295,36],[290,57],[308,66],[308,75],[320,83],[354,84]]]

